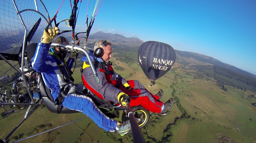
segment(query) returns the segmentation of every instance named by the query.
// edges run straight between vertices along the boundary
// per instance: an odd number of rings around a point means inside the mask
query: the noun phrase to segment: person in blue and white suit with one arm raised
[[[59,33],[58,27],[48,28],[48,32],[44,31],[42,38],[39,40],[36,52],[33,57],[32,67],[37,72],[42,73],[42,79],[45,85],[51,90],[52,98],[58,104],[58,97],[64,97],[59,100],[59,104],[72,110],[81,111],[87,114],[99,127],[110,132],[127,132],[130,130],[130,121],[118,122],[111,120],[102,113],[94,104],[91,98],[82,94],[83,84],[72,84],[71,67],[76,52],[71,53],[68,61],[66,57],[67,51],[60,48],[50,48],[51,40]],[[65,37],[58,37],[56,43],[69,45],[69,41]],[[61,96],[64,95],[64,96]],[[57,99],[56,99],[57,98]]]

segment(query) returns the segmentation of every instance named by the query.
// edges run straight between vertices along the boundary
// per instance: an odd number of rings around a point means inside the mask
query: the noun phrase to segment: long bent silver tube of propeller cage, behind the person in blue
[[[18,10],[18,7],[17,7],[15,1],[12,0],[12,2],[13,2],[13,6],[14,6],[16,12],[17,12],[17,15],[19,17],[19,20],[20,20],[20,22],[21,22],[21,24],[22,24],[22,26],[23,26],[23,28],[25,30],[24,39],[23,39],[23,47],[22,47],[22,57],[21,57],[21,75],[22,75],[23,79],[26,79],[25,76],[24,76],[24,53],[25,53],[26,38],[27,38],[27,28],[26,28],[26,25],[24,24],[24,22],[22,20],[22,17],[21,17],[21,15],[19,13],[19,10]],[[26,80],[24,80],[24,83],[25,83],[25,87],[26,87],[27,91],[30,91],[29,88],[28,88],[28,84],[27,84]],[[31,98],[31,101],[33,103],[35,103],[32,94],[30,92],[28,92],[28,94],[29,94],[29,96]]]

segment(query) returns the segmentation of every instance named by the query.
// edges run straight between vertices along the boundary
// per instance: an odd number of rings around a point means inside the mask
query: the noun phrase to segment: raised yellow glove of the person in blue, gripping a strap
[[[48,32],[47,32],[48,31]],[[47,31],[44,31],[44,34],[41,38],[41,42],[45,44],[51,43],[51,40],[55,38],[55,36],[59,33],[58,27],[49,27]]]

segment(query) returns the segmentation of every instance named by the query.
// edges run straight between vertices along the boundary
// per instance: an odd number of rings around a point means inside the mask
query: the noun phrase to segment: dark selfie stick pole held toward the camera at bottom
[[[126,105],[128,117],[131,123],[132,137],[133,137],[134,143],[146,143],[146,140],[142,135],[141,129],[134,117],[134,113],[132,111],[132,108],[128,100],[125,100],[125,105]]]

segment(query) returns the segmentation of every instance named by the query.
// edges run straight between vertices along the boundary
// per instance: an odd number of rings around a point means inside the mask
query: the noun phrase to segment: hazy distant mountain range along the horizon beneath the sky
[[[37,42],[38,39],[41,38],[41,35],[43,33],[44,29],[43,28],[38,28],[36,33],[34,34],[31,42]],[[20,38],[23,38],[23,35],[22,33],[23,30],[17,30],[16,32],[15,31],[11,31],[11,33],[15,33],[14,35],[12,34],[4,34],[4,33],[8,33],[8,31],[6,32],[0,32],[0,50],[3,52],[3,50],[6,50],[6,49],[10,49],[10,48],[14,48],[14,47],[19,47],[19,45],[21,45],[22,43],[18,44],[17,41],[22,41],[20,40]],[[70,40],[71,42],[71,32],[67,32],[67,33],[63,33],[61,34],[60,36],[64,36],[66,37],[67,39]],[[95,43],[97,42],[98,40],[102,40],[102,39],[105,39],[107,41],[111,41],[112,44],[113,44],[113,48],[115,46],[122,46],[122,47],[139,47],[144,41],[142,41],[141,39],[139,38],[136,38],[136,37],[125,37],[121,34],[112,34],[112,33],[104,33],[104,32],[96,32],[96,33],[93,33],[93,34],[90,34],[89,35],[89,38],[88,38],[88,43]],[[85,42],[85,38],[81,38],[80,40],[80,43],[84,43]],[[6,46],[4,46],[6,45]],[[9,45],[9,46],[7,46]],[[114,46],[115,45],[115,46]],[[16,51],[16,50],[15,50]],[[210,56],[207,56],[207,55],[203,55],[203,54],[199,54],[199,53],[195,53],[195,52],[188,52],[188,51],[179,51],[179,50],[175,50],[176,54],[177,55],[180,55],[180,56],[183,56],[183,57],[187,57],[187,58],[193,58],[195,60],[198,60],[198,61],[201,61],[201,62],[205,62],[205,63],[210,63],[210,64],[213,64],[213,65],[218,65],[218,66],[222,66],[222,67],[225,67],[225,68],[229,68],[229,69],[232,69],[234,71],[237,71],[239,73],[243,73],[243,74],[246,74],[248,76],[251,76],[251,77],[254,77],[256,78],[256,75],[254,74],[251,74],[249,72],[246,72],[242,69],[239,69],[233,65],[230,65],[230,64],[226,64],[226,63],[223,63],[215,58],[212,58]],[[178,56],[177,56],[178,57]],[[187,62],[188,64],[190,63],[189,61],[181,61],[179,59],[176,59],[177,62]]]

